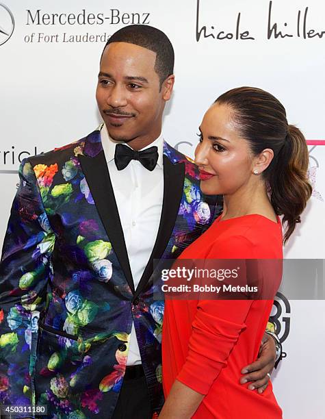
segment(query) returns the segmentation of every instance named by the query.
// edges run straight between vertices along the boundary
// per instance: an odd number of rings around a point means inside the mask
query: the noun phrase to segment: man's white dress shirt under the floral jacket
[[[164,198],[164,138],[160,135],[157,140],[142,149],[153,146],[158,148],[159,157],[152,172],[142,166],[138,160],[131,160],[123,170],[116,168],[114,154],[116,144],[119,142],[109,137],[105,124],[101,129],[101,142],[136,290],[153,251],[159,228]],[[141,364],[141,357],[134,324],[132,324],[127,366],[135,364]]]

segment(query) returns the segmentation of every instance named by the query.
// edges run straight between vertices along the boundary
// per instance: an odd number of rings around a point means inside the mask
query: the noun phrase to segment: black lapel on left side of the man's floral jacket
[[[109,241],[125,273],[127,283],[134,294],[134,284],[129,257],[127,255],[127,247],[125,246],[118,207],[116,205],[104,152],[100,151],[94,157],[90,155],[79,155],[79,160]]]

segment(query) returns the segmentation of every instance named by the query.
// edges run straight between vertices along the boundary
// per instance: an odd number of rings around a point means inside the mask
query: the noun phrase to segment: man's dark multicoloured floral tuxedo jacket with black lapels
[[[153,259],[177,257],[209,227],[216,197],[207,203],[196,166],[165,142],[159,231],[134,290],[100,129],[29,157],[19,175],[0,264],[0,403],[110,418],[134,322],[159,412],[164,301],[153,298]]]

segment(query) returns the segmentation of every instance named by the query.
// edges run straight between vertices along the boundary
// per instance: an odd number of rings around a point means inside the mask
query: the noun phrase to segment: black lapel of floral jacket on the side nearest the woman
[[[153,260],[160,259],[170,240],[183,195],[184,176],[185,164],[172,164],[168,157],[164,155],[164,201],[161,209],[159,229],[155,246],[153,246],[153,251],[146,264],[138,288],[135,290],[135,296],[142,292],[153,273]]]

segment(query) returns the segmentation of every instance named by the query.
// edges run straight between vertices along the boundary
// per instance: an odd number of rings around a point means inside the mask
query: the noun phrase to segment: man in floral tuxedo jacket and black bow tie
[[[120,29],[101,58],[104,124],[21,164],[0,268],[2,403],[46,405],[49,418],[159,413],[153,260],[177,257],[220,212],[161,136],[173,65],[161,31]],[[243,377],[256,388],[274,366],[266,342]]]

